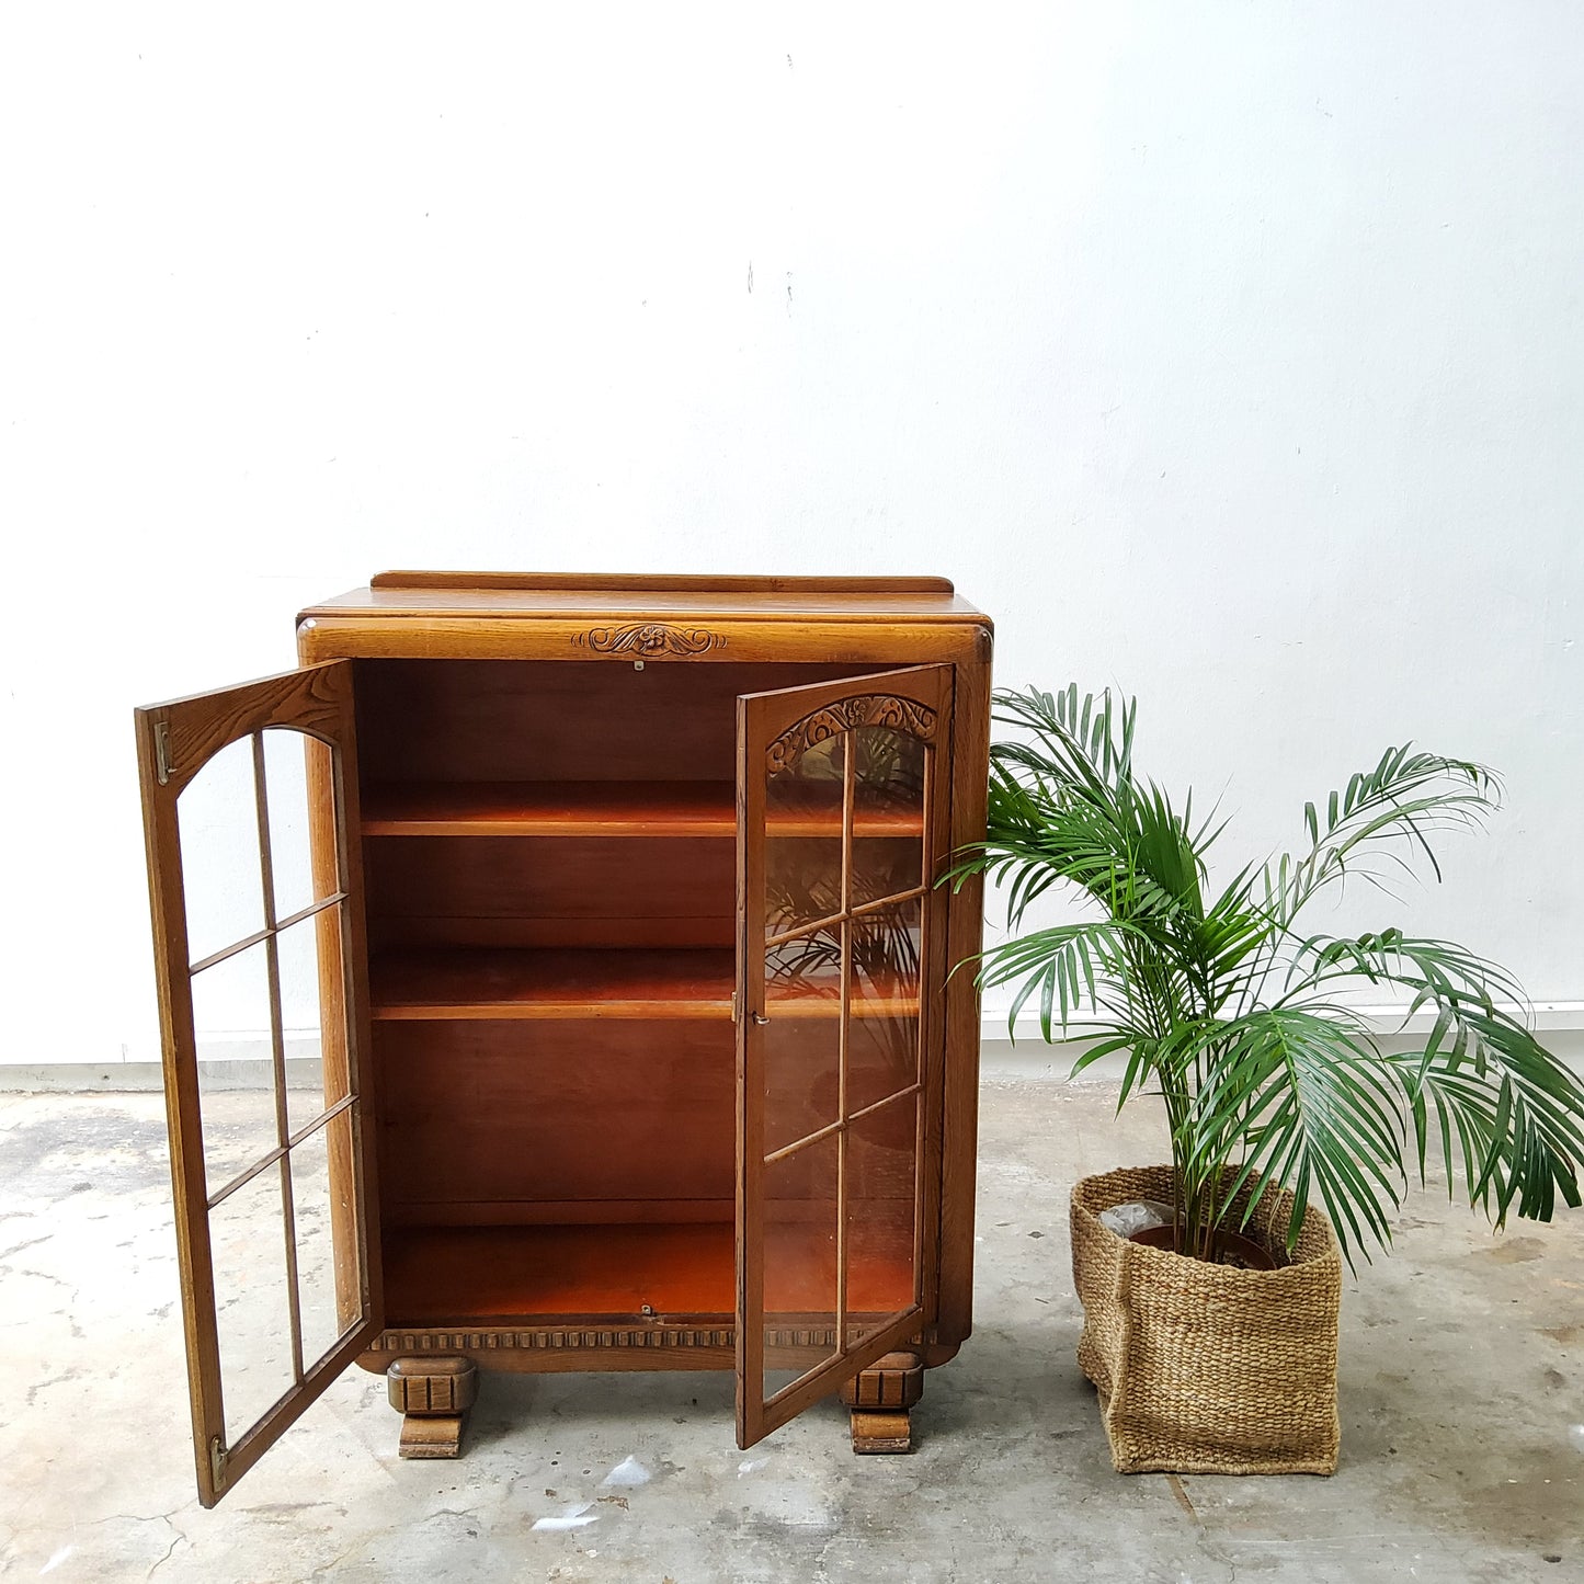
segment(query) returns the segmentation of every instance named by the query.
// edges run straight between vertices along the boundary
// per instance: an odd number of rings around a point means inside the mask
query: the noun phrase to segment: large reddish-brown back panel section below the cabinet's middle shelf
[[[577,1201],[580,1218],[630,1221],[634,1202],[684,1201],[678,1217],[730,1220],[733,1036],[703,1022],[375,1025],[386,1217],[532,1221]]]

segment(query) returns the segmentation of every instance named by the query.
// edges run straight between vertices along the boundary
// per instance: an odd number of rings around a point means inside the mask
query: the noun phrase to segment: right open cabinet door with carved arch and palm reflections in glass
[[[952,667],[738,700],[737,1437],[928,1324]]]

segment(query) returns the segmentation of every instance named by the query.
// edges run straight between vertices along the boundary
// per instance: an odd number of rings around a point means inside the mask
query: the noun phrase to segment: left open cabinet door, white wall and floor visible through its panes
[[[377,1335],[352,665],[136,711],[198,1494]]]

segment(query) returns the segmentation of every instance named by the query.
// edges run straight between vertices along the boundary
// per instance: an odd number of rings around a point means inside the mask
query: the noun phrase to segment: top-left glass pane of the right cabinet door
[[[765,787],[765,935],[841,912],[844,735],[797,754]]]

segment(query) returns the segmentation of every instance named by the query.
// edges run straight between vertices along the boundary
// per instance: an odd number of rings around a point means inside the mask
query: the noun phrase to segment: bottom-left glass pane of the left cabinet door
[[[209,1212],[209,1247],[225,1438],[234,1446],[296,1380],[279,1164]]]

